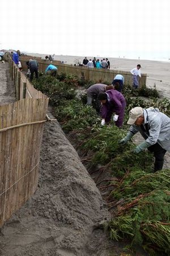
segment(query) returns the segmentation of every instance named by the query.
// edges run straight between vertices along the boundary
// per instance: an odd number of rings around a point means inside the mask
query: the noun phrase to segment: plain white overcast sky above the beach
[[[58,55],[170,55],[169,0],[1,0],[0,48]]]

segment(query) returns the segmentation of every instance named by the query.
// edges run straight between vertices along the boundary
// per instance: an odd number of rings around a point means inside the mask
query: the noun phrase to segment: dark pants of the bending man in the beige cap
[[[150,152],[154,152],[154,156],[155,156],[154,171],[156,172],[156,171],[162,170],[163,164],[164,164],[164,155],[165,155],[165,152],[167,151],[164,150],[164,148],[162,148],[162,146],[160,146],[158,142],[148,147],[148,150]]]

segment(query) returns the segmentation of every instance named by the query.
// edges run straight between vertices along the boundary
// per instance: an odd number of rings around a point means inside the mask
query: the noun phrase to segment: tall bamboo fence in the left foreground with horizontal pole
[[[37,189],[49,101],[11,60],[9,67],[18,101],[0,106],[0,227]]]

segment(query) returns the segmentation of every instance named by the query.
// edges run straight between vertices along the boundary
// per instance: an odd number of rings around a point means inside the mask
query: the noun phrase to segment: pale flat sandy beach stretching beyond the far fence
[[[41,56],[44,58],[48,54],[29,53],[33,56]],[[100,60],[103,57],[97,57]],[[74,64],[75,60],[83,62],[83,56],[67,56],[67,55],[55,55],[55,60],[64,61],[67,64]],[[87,56],[87,59],[93,59],[91,56]],[[147,86],[151,88],[156,85],[156,89],[167,98],[170,98],[170,63],[165,61],[154,60],[133,60],[122,58],[108,58],[111,63],[111,69],[118,71],[130,71],[135,68],[137,64],[141,64],[141,73],[147,74]]]

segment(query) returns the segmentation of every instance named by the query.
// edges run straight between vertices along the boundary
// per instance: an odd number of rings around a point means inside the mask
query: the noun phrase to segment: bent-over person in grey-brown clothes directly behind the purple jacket
[[[87,104],[92,105],[92,101],[95,101],[95,109],[100,112],[100,101],[97,100],[97,96],[100,92],[106,92],[107,90],[113,89],[112,85],[106,84],[94,84],[87,89]]]

